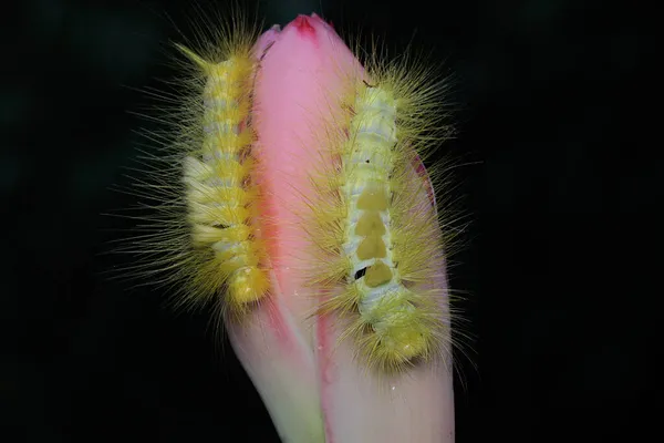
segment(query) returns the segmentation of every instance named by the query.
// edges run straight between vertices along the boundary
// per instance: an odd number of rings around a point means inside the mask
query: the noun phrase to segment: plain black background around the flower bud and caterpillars
[[[29,0],[3,17],[2,441],[277,442],[207,315],[107,281],[127,222],[103,214],[145,121],[135,89],[168,78],[186,1]],[[222,2],[218,3],[225,10]],[[636,3],[633,3],[636,4]],[[268,24],[317,11],[445,61],[447,150],[471,214],[457,441],[641,441],[661,348],[662,148],[656,14],[603,1],[264,2]],[[661,78],[660,78],[661,79]]]

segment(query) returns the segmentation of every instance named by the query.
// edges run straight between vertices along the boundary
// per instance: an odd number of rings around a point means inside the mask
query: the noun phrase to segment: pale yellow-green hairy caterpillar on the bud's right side
[[[350,319],[342,340],[390,373],[452,357],[448,290],[426,284],[445,280],[454,235],[442,231],[434,204],[422,203],[432,189],[416,172],[449,126],[440,123],[444,84],[425,68],[374,58],[365,69],[349,76],[341,97],[343,135],[325,132],[333,167],[313,179],[319,196],[307,230],[319,248],[312,285],[333,292],[319,313]]]

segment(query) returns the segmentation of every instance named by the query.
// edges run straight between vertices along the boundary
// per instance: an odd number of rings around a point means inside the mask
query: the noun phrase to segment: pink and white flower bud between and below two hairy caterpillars
[[[256,49],[264,53],[252,119],[272,290],[250,321],[229,324],[236,353],[284,442],[453,442],[448,364],[378,377],[356,361],[352,341],[336,346],[343,324],[335,317],[310,316],[317,288],[307,285],[302,267],[309,239],[299,214],[313,193],[321,134],[343,112],[334,99],[347,76],[361,72],[360,62],[315,14],[269,30]],[[426,175],[416,166],[413,173]],[[414,196],[423,205],[429,197]],[[446,287],[445,278],[434,284]]]

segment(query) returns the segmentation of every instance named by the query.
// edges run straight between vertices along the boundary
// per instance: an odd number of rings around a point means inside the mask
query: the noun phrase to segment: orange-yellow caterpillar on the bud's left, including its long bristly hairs
[[[135,275],[177,288],[176,305],[211,301],[232,319],[270,289],[250,117],[257,32],[237,19],[211,32],[203,55],[176,44],[190,63],[178,82],[186,93],[157,95],[167,127],[147,137],[163,152],[148,157],[148,178],[135,184],[146,190],[134,192],[158,204],[138,228],[146,234],[125,248],[139,256]]]

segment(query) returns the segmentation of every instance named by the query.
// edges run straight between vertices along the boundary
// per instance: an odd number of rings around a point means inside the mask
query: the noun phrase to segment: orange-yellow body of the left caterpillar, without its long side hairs
[[[191,243],[210,255],[201,264],[197,285],[209,286],[215,292],[226,284],[229,306],[242,310],[269,288],[268,277],[259,267],[263,246],[251,222],[257,194],[250,177],[253,163],[248,156],[253,133],[247,122],[253,61],[249,53],[238,52],[214,63],[179,48],[207,75],[203,146],[184,164]]]

